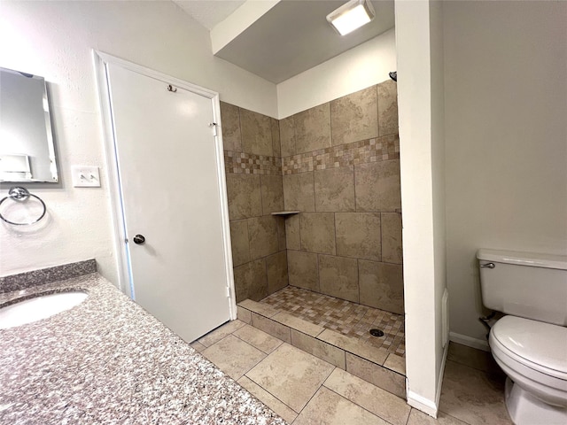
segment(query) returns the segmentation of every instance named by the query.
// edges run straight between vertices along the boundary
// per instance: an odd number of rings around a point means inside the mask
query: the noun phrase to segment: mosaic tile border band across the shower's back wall
[[[398,158],[400,137],[385,135],[282,158],[282,172],[283,175],[299,174]]]

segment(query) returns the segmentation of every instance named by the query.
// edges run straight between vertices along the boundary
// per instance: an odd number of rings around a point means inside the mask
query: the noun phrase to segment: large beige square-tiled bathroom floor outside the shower
[[[437,420],[242,321],[191,345],[292,425],[512,423],[504,406],[505,376],[494,369],[490,354],[458,344],[449,346]]]

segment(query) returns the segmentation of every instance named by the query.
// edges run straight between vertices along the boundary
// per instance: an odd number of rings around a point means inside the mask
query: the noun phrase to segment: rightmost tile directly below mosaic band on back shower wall
[[[400,159],[354,166],[356,211],[401,208]]]

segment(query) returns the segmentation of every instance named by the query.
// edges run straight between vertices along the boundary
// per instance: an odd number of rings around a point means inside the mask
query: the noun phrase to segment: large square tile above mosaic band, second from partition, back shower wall
[[[377,89],[369,87],[330,103],[333,146],[378,135]]]

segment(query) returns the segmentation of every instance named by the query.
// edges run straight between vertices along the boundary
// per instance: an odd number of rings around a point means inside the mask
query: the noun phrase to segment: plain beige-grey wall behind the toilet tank
[[[567,2],[447,2],[451,331],[485,345],[478,248],[567,254]]]

